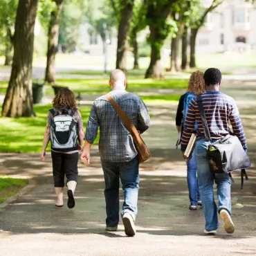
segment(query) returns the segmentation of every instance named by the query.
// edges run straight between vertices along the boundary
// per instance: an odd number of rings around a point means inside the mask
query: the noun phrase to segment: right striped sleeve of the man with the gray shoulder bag
[[[230,116],[230,123],[232,125],[233,133],[239,138],[241,145],[244,147],[244,150],[247,152],[247,144],[246,144],[246,134],[244,132],[244,127],[241,122],[241,118],[239,115],[239,110],[237,108],[237,104],[235,100],[233,101]]]

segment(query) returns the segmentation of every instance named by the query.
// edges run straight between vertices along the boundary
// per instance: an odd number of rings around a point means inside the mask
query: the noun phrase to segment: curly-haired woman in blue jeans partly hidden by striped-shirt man
[[[176,128],[178,133],[182,133],[184,129],[185,118],[188,115],[188,106],[195,95],[199,95],[205,91],[205,83],[203,73],[196,71],[190,76],[188,82],[187,93],[181,95],[176,113]],[[194,133],[196,133],[197,124],[194,125]],[[187,161],[187,179],[188,191],[190,197],[190,210],[197,210],[197,206],[201,206],[201,196],[196,176],[196,155],[192,154],[192,158]]]

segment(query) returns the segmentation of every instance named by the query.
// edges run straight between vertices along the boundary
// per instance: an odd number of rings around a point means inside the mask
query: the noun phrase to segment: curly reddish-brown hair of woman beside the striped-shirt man
[[[203,80],[203,73],[201,71],[195,71],[190,76],[188,82],[188,92],[199,95],[205,91],[205,82]]]

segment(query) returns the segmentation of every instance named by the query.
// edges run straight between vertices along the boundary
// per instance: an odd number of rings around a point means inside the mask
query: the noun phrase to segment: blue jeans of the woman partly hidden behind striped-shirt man
[[[197,205],[198,201],[201,201],[199,192],[199,185],[196,177],[196,154],[193,152],[192,158],[187,162],[188,167],[188,191],[190,194],[190,204]]]

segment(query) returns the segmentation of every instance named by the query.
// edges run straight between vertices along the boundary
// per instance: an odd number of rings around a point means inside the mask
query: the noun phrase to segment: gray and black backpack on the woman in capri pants
[[[69,152],[77,149],[77,122],[73,118],[77,109],[50,109],[53,115],[50,125],[51,149]]]

